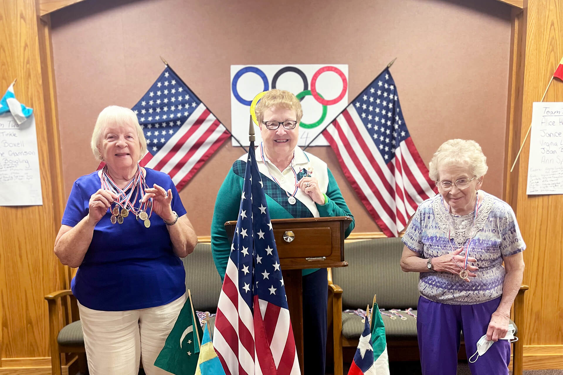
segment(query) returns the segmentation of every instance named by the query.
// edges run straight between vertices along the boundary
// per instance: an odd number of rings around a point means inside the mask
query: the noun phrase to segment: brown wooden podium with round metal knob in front
[[[333,218],[272,219],[280,268],[297,358],[303,374],[303,287],[301,270],[306,268],[345,267],[344,232],[352,222],[349,216]],[[232,238],[236,222],[226,222]],[[328,287],[325,291],[328,293]]]

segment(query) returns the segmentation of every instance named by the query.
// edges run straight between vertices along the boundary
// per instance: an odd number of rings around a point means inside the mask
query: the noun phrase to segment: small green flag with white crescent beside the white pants
[[[203,337],[202,326],[195,316],[191,296],[186,302],[154,365],[176,375],[193,375],[198,364],[198,338]]]

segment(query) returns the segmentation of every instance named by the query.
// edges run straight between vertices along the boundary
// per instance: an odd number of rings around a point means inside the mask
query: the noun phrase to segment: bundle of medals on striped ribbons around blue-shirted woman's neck
[[[135,208],[135,202],[138,201],[140,197],[144,194],[146,188],[148,188],[145,182],[145,176],[142,174],[141,167],[137,164],[137,172],[135,177],[127,184],[127,186],[122,189],[111,179],[108,174],[108,166],[104,166],[101,174],[101,188],[104,190],[109,190],[117,195],[117,199],[114,200],[113,208],[110,207],[111,212],[111,224],[123,224],[123,219],[129,216],[129,211],[135,214],[137,220],[142,220],[145,224],[145,228],[150,227],[150,215],[153,213],[153,198],[149,198],[146,202],[141,203],[137,208]],[[131,197],[135,196],[132,200]],[[148,213],[147,213],[148,211]]]

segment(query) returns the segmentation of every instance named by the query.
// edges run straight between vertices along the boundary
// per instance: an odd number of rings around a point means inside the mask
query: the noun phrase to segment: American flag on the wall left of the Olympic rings
[[[169,66],[132,110],[149,151],[141,166],[167,173],[178,191],[230,135]]]

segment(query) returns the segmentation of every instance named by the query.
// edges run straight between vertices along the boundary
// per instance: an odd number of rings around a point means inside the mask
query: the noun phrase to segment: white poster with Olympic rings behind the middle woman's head
[[[256,94],[278,88],[301,101],[299,146],[309,144],[348,105],[348,65],[231,65],[231,132],[248,146],[248,120]],[[260,129],[254,125],[256,140]],[[232,139],[232,138],[231,138]],[[233,146],[240,146],[232,139]],[[319,135],[311,146],[328,146]]]

